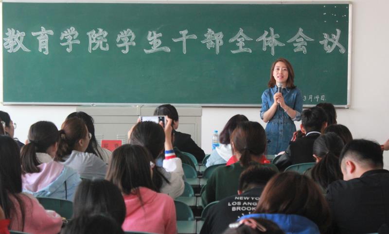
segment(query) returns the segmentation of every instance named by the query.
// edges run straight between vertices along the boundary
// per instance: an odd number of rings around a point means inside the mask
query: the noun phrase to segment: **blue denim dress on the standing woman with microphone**
[[[277,86],[265,90],[262,94],[261,119],[264,113],[273,105],[273,95],[277,93]],[[285,104],[296,110],[296,117],[292,120],[287,113],[279,106],[273,118],[267,122],[265,131],[267,137],[267,155],[275,155],[284,151],[296,131],[293,121],[301,120],[302,95],[299,89],[284,88],[282,91]]]

